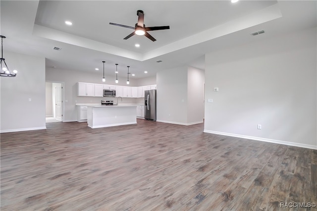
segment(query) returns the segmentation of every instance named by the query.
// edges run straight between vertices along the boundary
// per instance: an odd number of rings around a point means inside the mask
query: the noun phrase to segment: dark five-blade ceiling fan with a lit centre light
[[[151,36],[148,31],[156,31],[156,30],[164,30],[164,29],[169,29],[169,26],[159,26],[159,27],[145,27],[143,21],[144,21],[144,12],[142,10],[138,10],[137,11],[137,15],[138,15],[138,23],[135,24],[135,27],[130,27],[130,26],[126,26],[126,25],[121,25],[121,24],[114,24],[114,23],[109,23],[110,25],[114,25],[114,26],[119,26],[119,27],[125,27],[125,28],[129,28],[129,29],[134,29],[134,32],[131,33],[130,35],[127,35],[126,37],[124,37],[123,39],[128,39],[133,35],[145,35],[146,37],[148,37],[149,39],[151,39],[152,41],[156,41],[156,39]]]

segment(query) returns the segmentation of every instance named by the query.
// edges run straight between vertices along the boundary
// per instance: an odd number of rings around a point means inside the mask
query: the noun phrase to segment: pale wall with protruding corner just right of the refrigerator
[[[157,121],[191,125],[204,119],[204,70],[180,67],[157,73]]]

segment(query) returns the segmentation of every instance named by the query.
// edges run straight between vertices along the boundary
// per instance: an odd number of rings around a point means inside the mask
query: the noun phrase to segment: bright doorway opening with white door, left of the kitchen
[[[45,122],[63,121],[63,84],[59,82],[45,82]]]

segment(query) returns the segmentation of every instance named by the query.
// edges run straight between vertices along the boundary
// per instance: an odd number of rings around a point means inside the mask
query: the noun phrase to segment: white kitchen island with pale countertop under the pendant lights
[[[137,124],[137,106],[87,106],[91,128]]]

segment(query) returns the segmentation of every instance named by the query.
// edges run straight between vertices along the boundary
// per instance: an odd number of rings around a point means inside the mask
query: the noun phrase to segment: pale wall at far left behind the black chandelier
[[[0,131],[45,129],[45,58],[12,52],[3,56],[18,73],[0,77]]]

